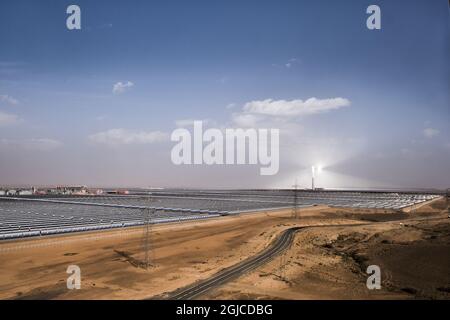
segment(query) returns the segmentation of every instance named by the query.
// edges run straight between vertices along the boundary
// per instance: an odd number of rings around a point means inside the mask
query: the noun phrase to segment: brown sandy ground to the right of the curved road
[[[450,219],[445,201],[407,215],[360,218],[380,222],[302,230],[285,254],[206,298],[450,299]],[[386,221],[390,219],[396,221]],[[380,267],[380,290],[367,289],[369,265]]]

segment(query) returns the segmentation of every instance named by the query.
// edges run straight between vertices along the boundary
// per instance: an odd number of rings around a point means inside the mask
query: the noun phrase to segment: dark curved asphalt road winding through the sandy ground
[[[267,261],[271,260],[273,257],[287,249],[292,242],[293,236],[295,232],[297,232],[300,227],[290,228],[284,230],[283,233],[274,241],[272,244],[264,249],[259,254],[247,258],[246,260],[226,268],[222,271],[219,271],[212,277],[196,282],[191,286],[178,289],[172,293],[170,293],[167,299],[171,300],[189,300],[194,299],[205,292],[216,288],[225,282],[230,280],[234,280],[244,273],[253,270]]]

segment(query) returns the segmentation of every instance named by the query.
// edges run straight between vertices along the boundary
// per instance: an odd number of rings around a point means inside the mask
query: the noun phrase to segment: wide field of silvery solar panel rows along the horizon
[[[401,209],[438,197],[430,194],[305,190],[164,190],[145,195],[0,197],[0,240],[93,231],[150,223],[298,207]]]

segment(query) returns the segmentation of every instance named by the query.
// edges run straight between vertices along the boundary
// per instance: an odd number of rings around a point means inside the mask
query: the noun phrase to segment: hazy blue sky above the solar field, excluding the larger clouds
[[[81,30],[65,26],[70,4]],[[381,30],[366,28],[370,4]],[[448,18],[444,0],[2,1],[2,183],[306,186],[323,161],[325,187],[447,187]],[[114,93],[119,82],[130,86]],[[233,126],[246,103],[311,97],[351,104],[265,119],[285,126],[277,177],[174,167],[167,141],[92,139],[170,134],[183,119]]]

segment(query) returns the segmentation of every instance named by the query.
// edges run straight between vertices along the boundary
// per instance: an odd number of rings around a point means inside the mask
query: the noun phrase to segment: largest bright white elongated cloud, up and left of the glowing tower
[[[262,114],[269,116],[302,116],[315,113],[323,113],[330,110],[337,110],[350,105],[350,101],[345,98],[317,99],[309,98],[303,100],[260,100],[251,101],[244,105],[245,113]]]

